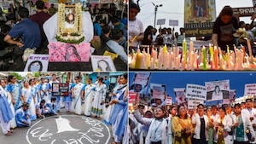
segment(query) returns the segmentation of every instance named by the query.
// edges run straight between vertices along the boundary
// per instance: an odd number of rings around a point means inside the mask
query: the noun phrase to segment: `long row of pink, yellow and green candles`
[[[193,41],[189,42],[189,49],[187,49],[187,43],[184,40],[182,50],[177,47],[168,50],[165,45],[160,49],[152,48],[149,54],[149,47],[147,52],[145,49],[143,51],[137,49],[136,53],[133,51],[129,55],[128,63],[131,69],[242,71],[256,66],[248,39],[247,48],[249,55],[244,47],[241,49],[234,47],[234,50],[230,50],[228,46],[224,54],[220,48],[212,47],[211,44],[209,49],[204,46],[201,50],[195,49]]]

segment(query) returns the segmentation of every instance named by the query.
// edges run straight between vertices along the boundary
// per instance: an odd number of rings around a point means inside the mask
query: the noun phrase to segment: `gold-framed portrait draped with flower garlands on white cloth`
[[[56,39],[61,42],[79,42],[82,36],[82,5],[58,5],[58,31]],[[74,42],[73,42],[74,41]]]

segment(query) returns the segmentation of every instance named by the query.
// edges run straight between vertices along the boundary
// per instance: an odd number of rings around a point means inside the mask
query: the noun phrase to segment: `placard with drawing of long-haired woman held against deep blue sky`
[[[205,82],[207,101],[230,99],[230,80]]]

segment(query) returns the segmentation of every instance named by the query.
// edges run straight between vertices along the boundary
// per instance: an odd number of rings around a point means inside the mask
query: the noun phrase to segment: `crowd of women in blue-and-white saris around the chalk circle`
[[[30,78],[19,84],[13,75],[1,78],[0,121],[3,134],[12,135],[16,127],[29,127],[37,119],[59,116],[61,108],[65,107],[67,113],[96,118],[111,125],[116,143],[122,139],[128,141],[124,136],[128,123],[127,73],[117,78],[109,92],[110,101],[107,101],[110,87],[107,76],[97,78],[96,82],[88,78],[87,84],[80,80],[76,76],[73,83],[70,78],[61,83],[61,79],[52,74],[51,80]],[[55,90],[58,90],[56,84],[68,86],[65,96],[55,95]]]

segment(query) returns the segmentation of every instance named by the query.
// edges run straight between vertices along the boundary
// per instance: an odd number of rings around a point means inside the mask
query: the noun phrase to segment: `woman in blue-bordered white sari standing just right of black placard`
[[[75,77],[75,83],[72,84],[72,105],[71,111],[81,115],[82,114],[82,95],[84,95],[84,84],[79,82],[79,76]]]

